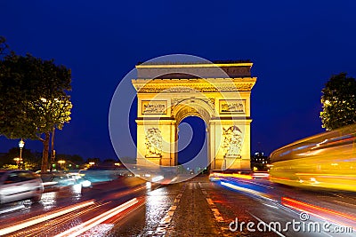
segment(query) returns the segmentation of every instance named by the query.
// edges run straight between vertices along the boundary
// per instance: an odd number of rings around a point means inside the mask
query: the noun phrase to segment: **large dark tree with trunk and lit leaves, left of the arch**
[[[70,83],[70,70],[53,59],[9,53],[0,61],[0,134],[42,141],[42,172],[53,128],[61,130],[70,120]]]

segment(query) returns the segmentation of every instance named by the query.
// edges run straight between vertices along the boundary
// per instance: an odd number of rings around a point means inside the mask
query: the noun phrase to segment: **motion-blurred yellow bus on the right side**
[[[356,191],[356,123],[283,146],[270,155],[271,180]]]

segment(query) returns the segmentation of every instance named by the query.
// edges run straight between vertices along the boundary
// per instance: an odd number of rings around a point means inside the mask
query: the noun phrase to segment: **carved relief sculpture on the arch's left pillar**
[[[160,157],[162,154],[162,135],[157,128],[146,130],[146,157]]]

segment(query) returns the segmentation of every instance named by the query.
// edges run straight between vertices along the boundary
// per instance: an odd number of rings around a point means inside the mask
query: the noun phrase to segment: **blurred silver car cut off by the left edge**
[[[41,200],[42,179],[29,170],[0,170],[0,204],[30,199]]]

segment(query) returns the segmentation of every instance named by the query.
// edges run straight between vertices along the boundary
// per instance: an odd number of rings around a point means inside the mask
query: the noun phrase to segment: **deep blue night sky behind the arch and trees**
[[[0,3],[0,36],[12,50],[72,70],[72,121],[57,153],[116,158],[111,97],[139,61],[183,53],[251,59],[251,152],[266,154],[323,131],[321,89],[356,76],[355,1],[17,1]],[[18,140],[0,138],[0,153]],[[26,147],[41,151],[42,143]]]

